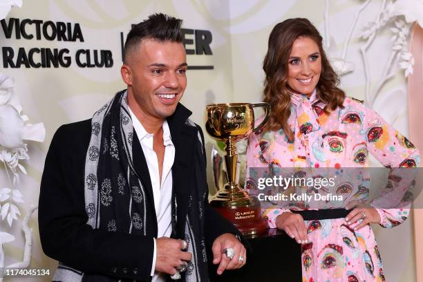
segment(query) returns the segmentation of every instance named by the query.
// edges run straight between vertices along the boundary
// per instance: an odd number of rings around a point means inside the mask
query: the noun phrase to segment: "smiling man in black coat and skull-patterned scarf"
[[[55,281],[208,281],[245,264],[238,231],[207,203],[200,127],[179,100],[187,86],[182,21],[151,15],[126,38],[127,90],[91,120],[61,126],[39,197]]]

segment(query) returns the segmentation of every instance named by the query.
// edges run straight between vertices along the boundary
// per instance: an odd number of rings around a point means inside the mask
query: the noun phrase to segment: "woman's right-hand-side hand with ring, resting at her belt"
[[[359,230],[361,227],[364,227],[369,223],[380,222],[380,216],[377,210],[374,207],[370,207],[369,205],[359,202],[358,200],[353,200],[348,203],[346,209],[353,209],[345,218],[346,223],[350,227],[353,227],[353,225],[361,219],[361,222],[359,225],[354,227],[354,230]]]

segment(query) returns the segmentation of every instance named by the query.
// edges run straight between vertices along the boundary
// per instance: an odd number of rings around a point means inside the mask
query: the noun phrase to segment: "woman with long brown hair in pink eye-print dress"
[[[384,281],[370,223],[398,225],[407,218],[409,205],[406,197],[399,199],[397,209],[380,208],[377,200],[362,205],[358,200],[368,197],[370,181],[368,171],[361,168],[368,167],[371,153],[392,168],[392,187],[406,191],[411,180],[395,176],[394,168],[417,166],[417,149],[377,113],[337,87],[339,79],[323,51],[321,35],[308,19],[288,19],[274,27],[263,70],[264,102],[272,111],[265,130],[249,137],[247,167],[266,167],[270,173],[279,167],[332,168],[327,170],[347,178],[354,173],[348,171],[351,168],[360,170],[361,181],[335,187],[344,196],[341,205],[313,206],[300,200],[289,209],[266,209],[263,216],[269,227],[284,230],[302,244],[303,281]],[[254,194],[257,175],[247,171],[246,188]]]

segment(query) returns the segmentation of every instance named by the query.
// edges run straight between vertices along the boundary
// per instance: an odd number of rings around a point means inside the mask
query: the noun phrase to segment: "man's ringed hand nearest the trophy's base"
[[[223,250],[232,248],[235,251],[235,255],[232,259],[229,259]],[[225,270],[235,270],[242,267],[247,262],[247,251],[244,245],[231,233],[225,233],[213,242],[213,264],[218,264],[217,274],[222,274]],[[241,259],[240,260],[240,256]]]

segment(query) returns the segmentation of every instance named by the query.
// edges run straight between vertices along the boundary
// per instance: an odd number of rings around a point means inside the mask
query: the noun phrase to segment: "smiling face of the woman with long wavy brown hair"
[[[321,73],[319,46],[310,37],[298,37],[288,59],[288,86],[291,91],[310,95]]]

